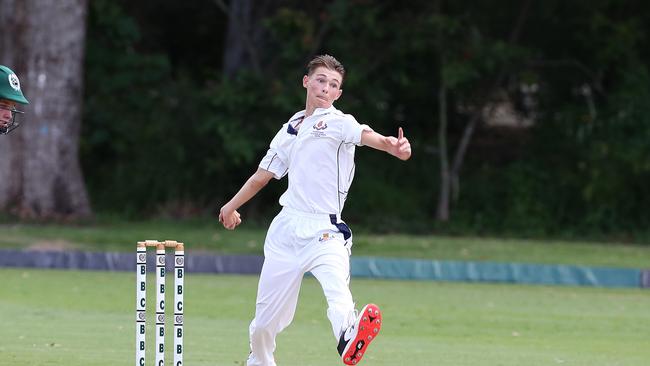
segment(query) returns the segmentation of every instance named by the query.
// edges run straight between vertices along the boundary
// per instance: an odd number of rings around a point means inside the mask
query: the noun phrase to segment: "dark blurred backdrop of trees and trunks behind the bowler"
[[[216,220],[328,53],[337,108],[413,146],[357,149],[352,225],[644,241],[649,23],[632,0],[0,0],[30,100],[0,136],[2,220]]]

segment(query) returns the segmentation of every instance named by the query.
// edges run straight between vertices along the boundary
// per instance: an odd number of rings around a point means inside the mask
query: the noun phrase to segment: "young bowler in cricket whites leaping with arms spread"
[[[257,171],[220,210],[226,229],[241,223],[237,209],[271,178],[289,176],[280,197],[282,210],[273,219],[264,242],[255,317],[249,328],[248,365],[273,366],[275,339],[292,321],[303,275],[311,272],[327,299],[327,317],[347,365],[356,365],[381,329],[381,311],[368,304],[357,313],[350,281],[352,232],[341,219],[354,177],[356,146],[370,146],[398,159],[411,157],[402,128],[397,137],[383,136],[353,116],[336,109],[345,69],[329,55],[307,66],[302,85],[305,109],[285,123],[271,141]]]

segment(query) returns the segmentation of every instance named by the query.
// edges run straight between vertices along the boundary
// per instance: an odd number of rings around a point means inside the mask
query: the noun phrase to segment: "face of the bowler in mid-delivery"
[[[343,89],[343,77],[338,71],[318,67],[311,75],[302,78],[302,86],[307,89],[307,105],[315,108],[329,108],[339,99]]]

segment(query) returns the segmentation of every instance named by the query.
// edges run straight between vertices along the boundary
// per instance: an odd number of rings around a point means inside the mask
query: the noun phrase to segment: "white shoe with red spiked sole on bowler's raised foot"
[[[363,307],[359,316],[339,339],[338,351],[346,365],[357,365],[381,330],[381,310],[375,304]]]

